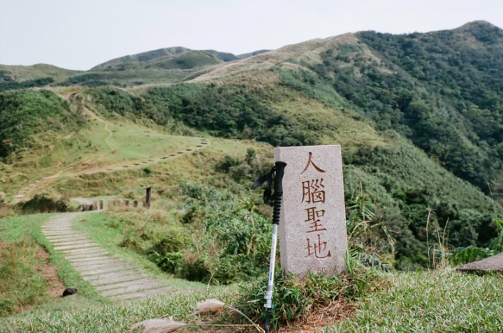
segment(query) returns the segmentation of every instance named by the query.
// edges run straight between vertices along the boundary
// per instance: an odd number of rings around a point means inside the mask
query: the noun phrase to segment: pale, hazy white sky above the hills
[[[0,0],[0,64],[87,71],[184,46],[242,54],[374,30],[503,28],[502,0]]]

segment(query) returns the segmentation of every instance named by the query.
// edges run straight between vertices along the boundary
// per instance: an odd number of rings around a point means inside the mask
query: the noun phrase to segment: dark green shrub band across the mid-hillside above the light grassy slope
[[[224,138],[256,139],[274,146],[316,145],[316,136],[296,119],[268,108],[266,96],[231,85],[177,84],[135,96],[118,89],[90,91],[108,112],[168,119]]]

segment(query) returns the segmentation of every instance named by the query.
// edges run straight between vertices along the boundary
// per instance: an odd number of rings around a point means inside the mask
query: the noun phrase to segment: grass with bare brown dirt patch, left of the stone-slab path
[[[50,216],[52,215],[36,214],[0,219],[0,308],[3,302],[5,312],[7,308],[10,308],[8,312],[23,309],[25,312],[19,316],[25,316],[27,313],[40,311],[84,309],[108,302],[45,239],[41,224]],[[78,288],[79,295],[72,297],[72,302],[48,296],[48,286],[45,286],[43,276],[35,269],[44,265],[44,262],[35,257],[35,253],[42,248],[49,252],[50,263],[56,266],[57,276],[64,285]],[[15,305],[8,299],[15,299]],[[6,314],[1,312],[0,309],[0,316]]]

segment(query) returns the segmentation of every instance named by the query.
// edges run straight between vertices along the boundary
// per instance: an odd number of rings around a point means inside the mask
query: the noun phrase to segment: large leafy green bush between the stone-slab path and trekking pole
[[[156,241],[147,251],[150,260],[183,279],[214,284],[246,281],[266,270],[272,228],[250,200],[189,183],[180,192],[187,196],[184,229]]]

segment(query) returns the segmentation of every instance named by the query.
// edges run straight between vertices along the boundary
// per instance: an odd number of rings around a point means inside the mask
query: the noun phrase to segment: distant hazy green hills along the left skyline
[[[89,71],[70,71],[56,66],[0,65],[0,91],[31,87],[84,86],[135,87],[143,84],[192,80],[214,66],[268,52],[260,50],[235,56],[216,50],[166,47],[120,57],[94,66]]]

